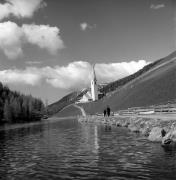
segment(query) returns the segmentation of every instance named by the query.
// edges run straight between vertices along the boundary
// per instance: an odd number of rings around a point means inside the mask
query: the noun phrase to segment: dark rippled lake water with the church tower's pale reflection
[[[0,130],[0,179],[176,179],[175,151],[76,119]]]

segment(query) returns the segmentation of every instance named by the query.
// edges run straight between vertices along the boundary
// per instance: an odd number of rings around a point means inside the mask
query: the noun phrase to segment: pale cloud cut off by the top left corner
[[[17,18],[31,18],[38,9],[46,6],[43,0],[6,0],[0,4],[0,20],[13,15]]]

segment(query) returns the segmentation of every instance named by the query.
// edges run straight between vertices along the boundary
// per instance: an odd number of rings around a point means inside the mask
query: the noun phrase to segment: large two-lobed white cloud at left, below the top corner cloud
[[[56,54],[64,47],[57,27],[49,25],[23,24],[7,21],[0,23],[0,49],[9,59],[23,54],[22,45],[33,44]]]

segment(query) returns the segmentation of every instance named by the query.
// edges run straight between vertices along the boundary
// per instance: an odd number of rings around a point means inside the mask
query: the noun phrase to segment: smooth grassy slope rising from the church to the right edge
[[[155,62],[155,66],[118,88],[103,100],[82,104],[93,114],[108,104],[113,111],[136,106],[164,104],[176,100],[176,52]]]

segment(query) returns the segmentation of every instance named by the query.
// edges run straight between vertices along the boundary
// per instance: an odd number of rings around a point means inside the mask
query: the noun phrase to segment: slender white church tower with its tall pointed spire
[[[98,100],[98,84],[95,74],[95,64],[92,66],[91,95],[93,101]]]

